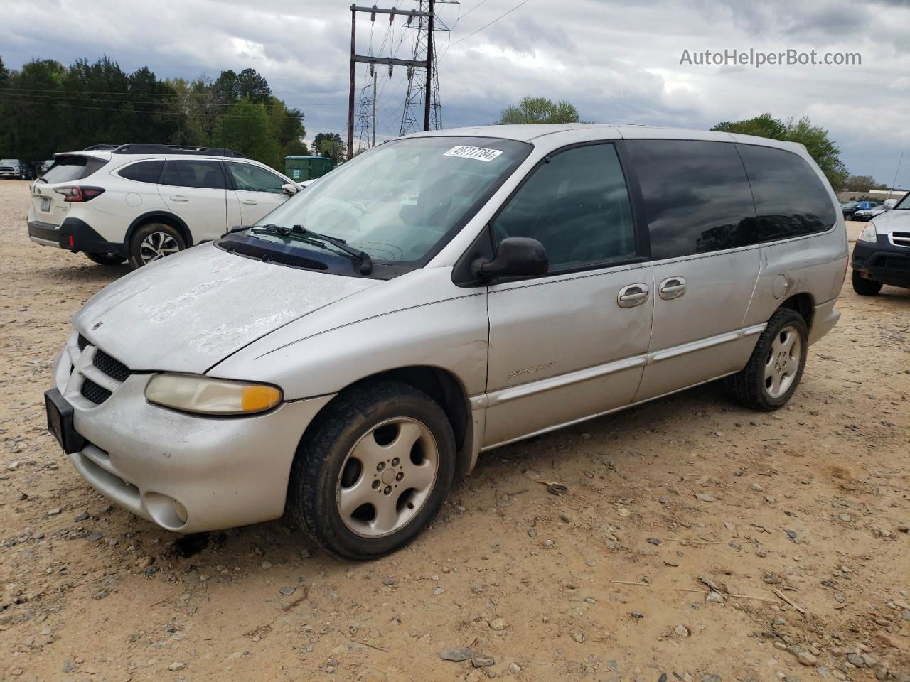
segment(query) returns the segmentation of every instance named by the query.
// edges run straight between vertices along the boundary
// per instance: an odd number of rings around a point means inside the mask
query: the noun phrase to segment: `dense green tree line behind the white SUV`
[[[0,57],[4,157],[35,161],[89,145],[141,142],[224,146],[281,169],[285,156],[309,153],[303,117],[252,68],[215,79],[160,79],[147,66],[126,73],[107,56],[69,66],[33,59],[19,70],[5,68]]]

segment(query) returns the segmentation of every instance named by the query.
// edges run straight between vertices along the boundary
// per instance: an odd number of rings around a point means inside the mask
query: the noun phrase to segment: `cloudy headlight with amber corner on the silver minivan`
[[[201,415],[251,415],[278,405],[275,386],[187,374],[157,374],[146,386],[150,403]]]

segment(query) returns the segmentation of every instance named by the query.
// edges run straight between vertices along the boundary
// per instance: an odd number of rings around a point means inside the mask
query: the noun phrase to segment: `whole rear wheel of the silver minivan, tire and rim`
[[[786,405],[803,378],[808,338],[805,320],[795,310],[774,313],[748,364],[729,379],[737,402],[763,412]]]

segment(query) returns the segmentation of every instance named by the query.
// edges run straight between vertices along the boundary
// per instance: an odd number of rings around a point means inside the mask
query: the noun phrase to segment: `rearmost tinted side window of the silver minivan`
[[[768,146],[736,146],[752,184],[758,241],[809,235],[834,225],[834,204],[803,158]]]

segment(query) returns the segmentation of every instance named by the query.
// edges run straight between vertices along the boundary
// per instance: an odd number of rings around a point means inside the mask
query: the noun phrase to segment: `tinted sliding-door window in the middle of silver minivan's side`
[[[654,260],[754,243],[752,192],[733,143],[630,140],[624,145],[642,187]]]

